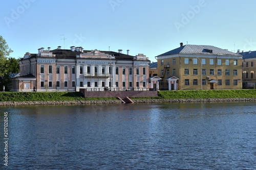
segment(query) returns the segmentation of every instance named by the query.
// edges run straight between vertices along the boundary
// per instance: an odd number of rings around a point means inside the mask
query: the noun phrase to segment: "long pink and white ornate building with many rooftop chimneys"
[[[112,51],[84,51],[71,46],[63,50],[38,49],[38,54],[26,53],[19,61],[20,75],[15,78],[15,91],[79,91],[143,90],[148,88],[150,60]]]

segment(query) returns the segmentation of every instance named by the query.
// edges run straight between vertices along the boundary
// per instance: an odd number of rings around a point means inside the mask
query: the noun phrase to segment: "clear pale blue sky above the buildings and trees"
[[[183,44],[256,50],[255,0],[12,0],[0,6],[10,57],[61,46],[130,50],[152,62]]]

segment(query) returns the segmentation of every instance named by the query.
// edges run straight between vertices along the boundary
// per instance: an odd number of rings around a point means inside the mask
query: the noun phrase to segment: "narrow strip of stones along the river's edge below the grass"
[[[227,99],[133,99],[134,103],[209,103],[209,102],[254,102],[256,98],[227,98]],[[84,104],[123,104],[120,100],[92,101],[20,101],[0,102],[0,106],[25,105],[84,105]]]

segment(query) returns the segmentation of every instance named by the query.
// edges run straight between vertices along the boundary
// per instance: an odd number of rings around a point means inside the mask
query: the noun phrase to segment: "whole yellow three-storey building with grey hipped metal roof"
[[[242,89],[242,55],[180,43],[156,58],[160,90]]]

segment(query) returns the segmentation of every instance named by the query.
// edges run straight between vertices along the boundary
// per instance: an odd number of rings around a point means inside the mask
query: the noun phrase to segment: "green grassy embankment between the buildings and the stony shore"
[[[158,91],[158,97],[132,99],[228,99],[256,98],[255,89],[246,90],[177,90]],[[6,101],[85,101],[116,100],[116,98],[83,98],[79,92],[0,92],[0,102]]]

